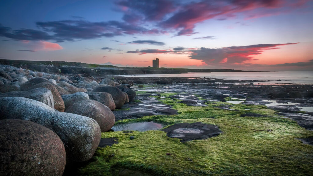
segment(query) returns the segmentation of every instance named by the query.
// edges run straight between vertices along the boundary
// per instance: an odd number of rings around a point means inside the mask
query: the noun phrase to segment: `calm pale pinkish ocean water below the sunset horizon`
[[[277,72],[211,72],[184,74],[127,75],[131,77],[198,77],[224,80],[269,80],[254,84],[313,84],[313,71],[277,71]],[[281,80],[281,81],[277,81]]]

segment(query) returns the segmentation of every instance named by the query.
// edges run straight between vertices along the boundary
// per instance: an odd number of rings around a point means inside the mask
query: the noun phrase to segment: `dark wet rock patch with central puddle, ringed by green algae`
[[[167,132],[168,137],[182,139],[181,142],[207,139],[208,137],[218,136],[223,133],[217,126],[201,122],[177,123],[161,131]]]

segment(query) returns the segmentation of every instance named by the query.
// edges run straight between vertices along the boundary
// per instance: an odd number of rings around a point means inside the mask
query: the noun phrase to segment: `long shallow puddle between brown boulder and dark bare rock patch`
[[[124,130],[132,130],[132,131],[140,131],[145,132],[148,130],[158,130],[163,128],[163,125],[155,122],[138,122],[138,123],[127,123],[115,125],[112,127],[114,131],[124,131]]]

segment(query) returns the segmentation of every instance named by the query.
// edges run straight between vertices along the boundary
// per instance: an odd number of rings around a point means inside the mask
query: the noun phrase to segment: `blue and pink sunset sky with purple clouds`
[[[313,70],[312,0],[0,0],[0,59]]]

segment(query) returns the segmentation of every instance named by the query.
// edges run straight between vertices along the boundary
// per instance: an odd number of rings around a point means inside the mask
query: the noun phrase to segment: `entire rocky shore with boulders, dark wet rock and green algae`
[[[0,174],[313,174],[313,85],[256,81],[0,65]]]

